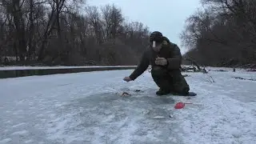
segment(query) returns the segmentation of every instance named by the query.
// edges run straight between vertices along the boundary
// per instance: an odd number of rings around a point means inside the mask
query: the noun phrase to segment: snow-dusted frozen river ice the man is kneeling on
[[[147,71],[134,82],[122,81],[132,70],[0,79],[0,143],[254,144],[256,81],[233,77],[256,73],[231,71],[184,73],[190,98],[156,96]]]

